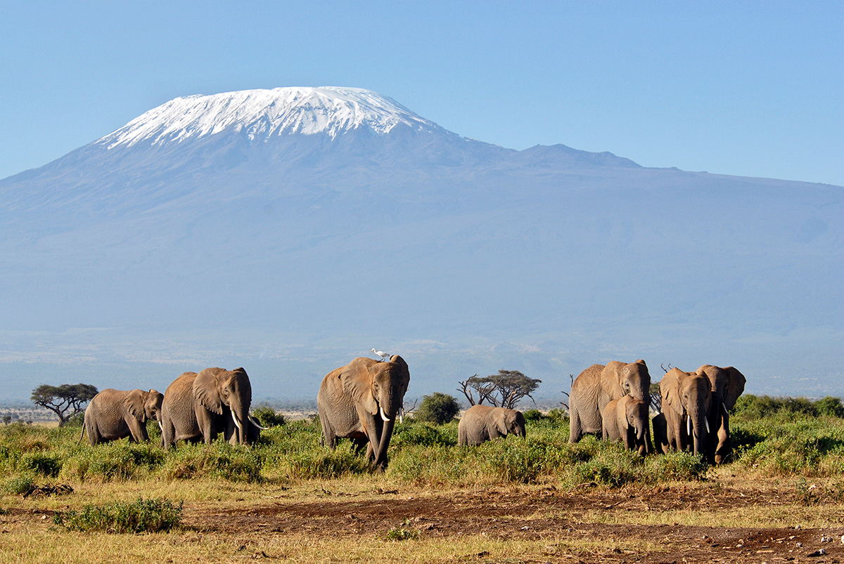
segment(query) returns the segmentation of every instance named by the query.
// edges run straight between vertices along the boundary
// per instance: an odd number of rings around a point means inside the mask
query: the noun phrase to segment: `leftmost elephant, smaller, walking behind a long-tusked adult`
[[[147,422],[154,419],[161,425],[163,400],[164,395],[154,389],[104,389],[85,409],[82,435],[88,434],[91,446],[124,437],[130,443],[149,441]]]

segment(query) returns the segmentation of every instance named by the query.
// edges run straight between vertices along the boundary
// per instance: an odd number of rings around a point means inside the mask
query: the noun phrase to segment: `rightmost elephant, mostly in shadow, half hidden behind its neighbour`
[[[737,368],[721,368],[704,364],[697,373],[706,375],[712,392],[712,406],[709,410],[709,428],[717,429],[709,434],[706,444],[706,457],[712,464],[721,464],[732,451],[730,445],[729,412],[736,405],[738,396],[744,393],[746,379]]]

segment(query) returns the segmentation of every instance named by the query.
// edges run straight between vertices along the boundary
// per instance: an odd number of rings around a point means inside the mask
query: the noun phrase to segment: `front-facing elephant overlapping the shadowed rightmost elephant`
[[[672,368],[659,381],[668,449],[706,454],[712,392],[705,374]]]

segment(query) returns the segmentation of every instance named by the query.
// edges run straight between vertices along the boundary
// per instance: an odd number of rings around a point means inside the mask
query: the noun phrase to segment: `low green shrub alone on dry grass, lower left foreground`
[[[106,533],[154,533],[169,531],[181,522],[182,502],[176,506],[167,499],[138,498],[137,502],[86,505],[80,511],[56,512],[53,523],[77,531]]]

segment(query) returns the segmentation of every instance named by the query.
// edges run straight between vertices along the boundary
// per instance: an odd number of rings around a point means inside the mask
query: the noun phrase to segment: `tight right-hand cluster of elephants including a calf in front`
[[[601,433],[640,454],[688,450],[721,464],[730,454],[729,411],[744,384],[744,374],[733,367],[672,368],[659,382],[661,411],[653,417],[651,437],[651,375],[645,361],[593,364],[571,384],[569,440]]]

